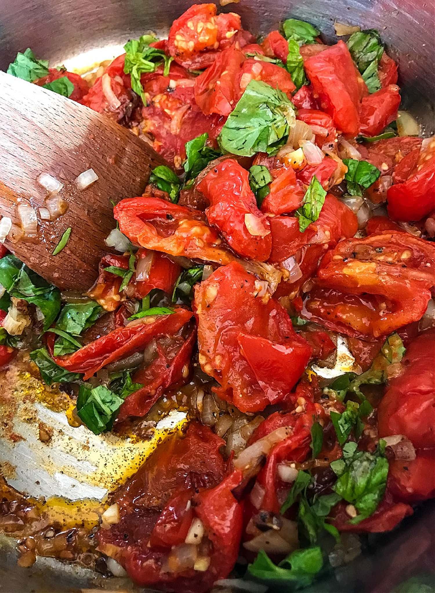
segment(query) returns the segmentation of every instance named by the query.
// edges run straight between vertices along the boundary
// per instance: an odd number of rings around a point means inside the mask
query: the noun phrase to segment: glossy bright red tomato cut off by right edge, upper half
[[[418,221],[435,208],[435,139],[421,152],[417,168],[405,183],[387,193],[388,213],[393,220]]]

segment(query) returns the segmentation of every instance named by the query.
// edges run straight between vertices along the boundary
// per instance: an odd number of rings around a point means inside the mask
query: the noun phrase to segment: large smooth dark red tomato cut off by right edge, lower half
[[[415,448],[435,447],[435,331],[411,341],[404,374],[389,382],[378,408],[379,435],[405,435]]]

